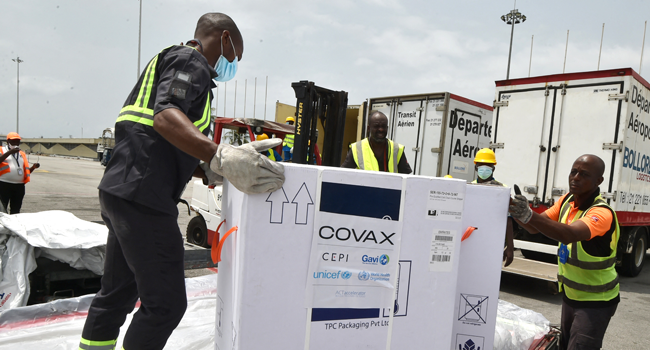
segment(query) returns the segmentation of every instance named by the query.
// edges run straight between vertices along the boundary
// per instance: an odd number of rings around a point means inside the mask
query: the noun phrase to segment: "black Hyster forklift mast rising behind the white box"
[[[320,119],[325,130],[322,165],[340,166],[348,93],[328,90],[307,80],[292,83],[291,87],[297,99],[293,162],[307,164],[308,159],[315,159]]]

